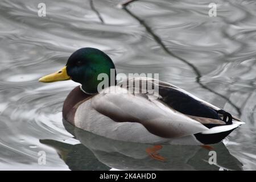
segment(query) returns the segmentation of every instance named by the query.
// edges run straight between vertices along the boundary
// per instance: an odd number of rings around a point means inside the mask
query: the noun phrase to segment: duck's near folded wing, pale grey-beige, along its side
[[[115,122],[138,122],[150,133],[163,138],[184,137],[209,130],[159,100],[148,100],[143,94],[129,94],[127,89],[119,86],[108,90],[112,91],[106,92],[105,89],[94,96],[92,106]]]

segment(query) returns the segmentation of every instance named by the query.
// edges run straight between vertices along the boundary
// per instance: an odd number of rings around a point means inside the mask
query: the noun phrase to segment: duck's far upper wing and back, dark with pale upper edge
[[[123,85],[123,82],[126,82],[126,84],[124,84],[125,86]],[[204,100],[201,100],[200,98],[194,96],[191,93],[188,93],[187,91],[185,91],[175,85],[172,85],[168,82],[155,80],[154,78],[135,77],[135,78],[131,78],[129,80],[123,81],[123,82],[120,82],[118,84],[122,85],[122,87],[124,86],[127,89],[130,89],[131,87],[133,87],[131,85],[136,85],[136,83],[139,83],[139,86],[137,86],[137,87],[139,88],[140,91],[142,90],[143,93],[148,92],[147,89],[143,90],[143,88],[147,88],[148,85],[154,85],[154,87],[159,89],[158,94],[160,97],[162,97],[162,99],[160,99],[160,100],[166,102],[166,104],[172,108],[174,108],[174,104],[176,103],[175,105],[178,107],[175,107],[176,108],[175,110],[179,110],[183,114],[187,113],[188,115],[193,115],[193,114],[196,114],[197,116],[201,115],[201,117],[210,120],[209,118],[217,119],[216,116],[213,117],[213,115],[215,113],[214,110],[215,111],[221,110],[219,107],[214,106]],[[144,86],[141,86],[141,85],[144,85]],[[133,89],[135,89],[135,88],[133,88]],[[193,104],[189,105],[189,102],[192,103],[191,101],[196,101],[196,102],[193,102]],[[205,112],[208,114],[203,114]],[[217,113],[215,113],[215,115],[217,115]],[[223,115],[219,114],[219,117],[223,117]],[[237,121],[241,121],[234,115],[232,115],[232,117],[233,117],[233,119],[235,119]],[[192,118],[192,119],[195,119],[195,118]],[[200,118],[197,118],[196,120],[203,121]],[[215,122],[213,121],[213,123],[215,123]]]

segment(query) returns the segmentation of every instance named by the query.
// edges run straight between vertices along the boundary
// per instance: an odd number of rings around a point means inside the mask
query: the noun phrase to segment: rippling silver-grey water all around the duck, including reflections
[[[0,2],[0,169],[256,169],[256,2],[119,0]],[[170,82],[241,117],[246,125],[214,145],[217,165],[198,146],[118,142],[64,123],[63,101],[77,84],[42,84],[81,47],[112,57],[117,72],[159,73]],[[46,165],[38,152],[46,152]]]

